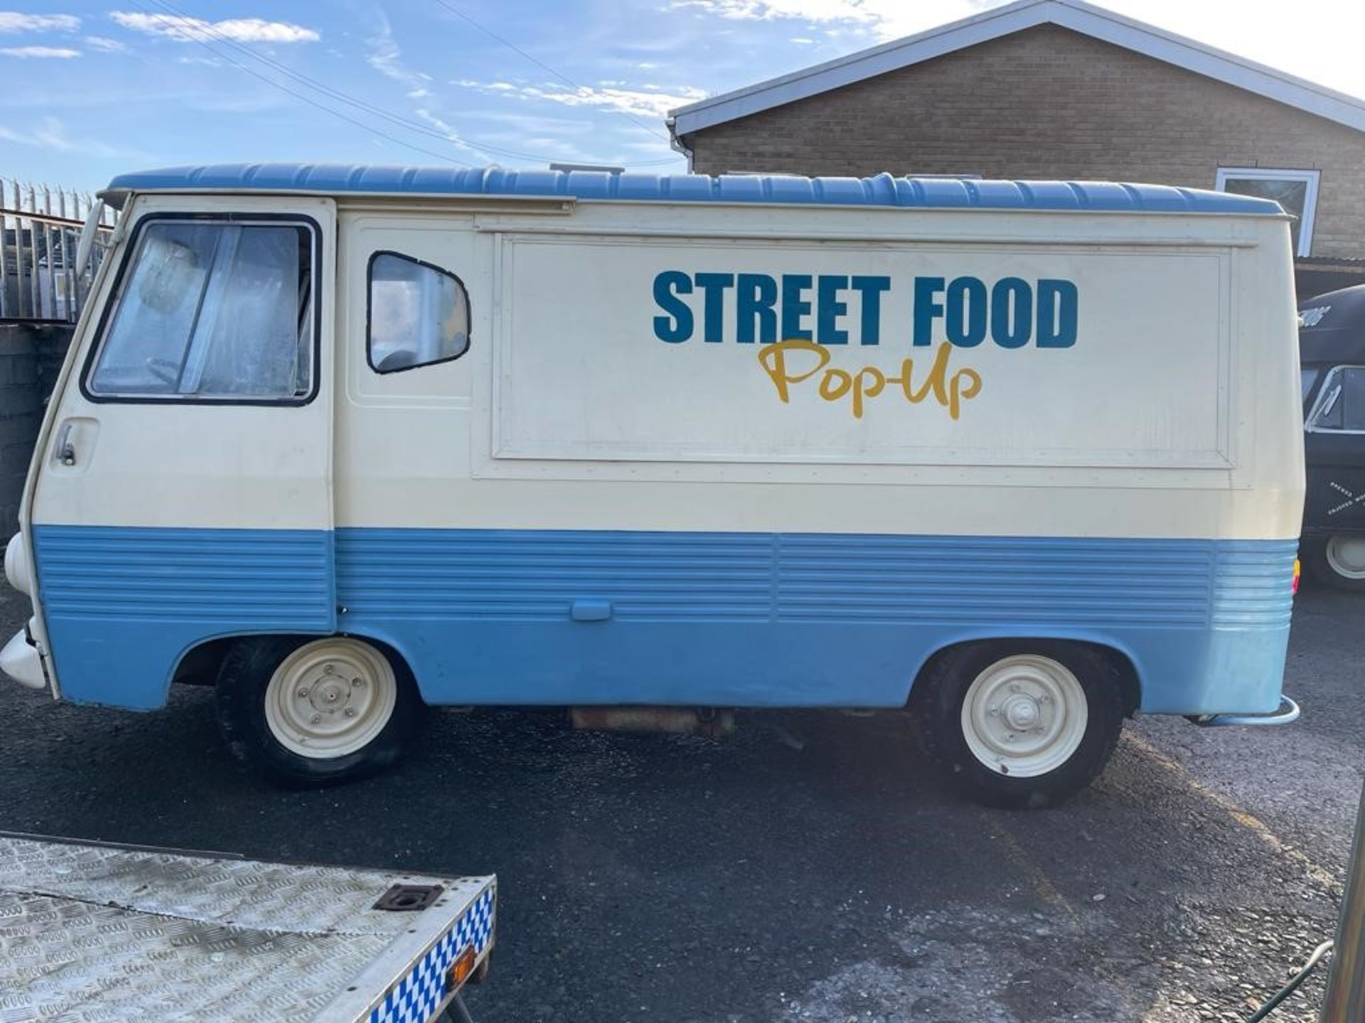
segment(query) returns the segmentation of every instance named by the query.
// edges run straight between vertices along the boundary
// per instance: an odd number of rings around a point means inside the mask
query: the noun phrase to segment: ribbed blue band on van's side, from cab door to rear
[[[1295,543],[341,529],[352,614],[1279,627]]]

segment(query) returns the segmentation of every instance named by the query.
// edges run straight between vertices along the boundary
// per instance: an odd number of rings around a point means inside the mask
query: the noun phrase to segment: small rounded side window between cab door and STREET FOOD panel
[[[366,356],[375,372],[459,359],[470,349],[470,297],[460,278],[397,252],[370,256]]]

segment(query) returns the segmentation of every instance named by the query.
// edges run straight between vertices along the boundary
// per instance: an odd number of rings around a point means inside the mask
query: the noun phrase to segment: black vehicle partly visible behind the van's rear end
[[[1304,367],[1304,563],[1365,593],[1365,284],[1299,303]]]

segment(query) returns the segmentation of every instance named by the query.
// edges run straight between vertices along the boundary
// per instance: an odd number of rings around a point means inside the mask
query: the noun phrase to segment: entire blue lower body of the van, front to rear
[[[68,698],[156,707],[194,642],[388,642],[441,704],[897,707],[938,649],[1100,642],[1143,709],[1269,712],[1294,540],[37,527]],[[141,567],[139,567],[141,566]]]

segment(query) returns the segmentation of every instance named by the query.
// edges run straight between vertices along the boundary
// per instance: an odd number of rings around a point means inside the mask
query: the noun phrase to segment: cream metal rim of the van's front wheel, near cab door
[[[291,753],[332,760],[364,749],[393,716],[399,683],[388,657],[360,640],[304,644],[265,690],[270,734]]]

